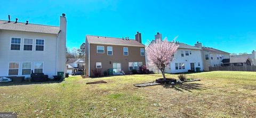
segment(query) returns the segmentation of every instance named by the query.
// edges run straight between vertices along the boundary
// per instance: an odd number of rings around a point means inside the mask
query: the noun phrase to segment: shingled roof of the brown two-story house
[[[91,44],[138,46],[138,47],[145,46],[134,39],[125,40],[122,38],[102,37],[102,36],[92,36],[92,35],[86,35],[86,39],[88,43],[91,43]]]

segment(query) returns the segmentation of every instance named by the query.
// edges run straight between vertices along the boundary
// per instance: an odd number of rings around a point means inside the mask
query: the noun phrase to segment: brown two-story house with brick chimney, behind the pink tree
[[[94,76],[92,70],[101,69],[101,74],[113,69],[114,74],[138,70],[145,65],[145,45],[141,43],[141,33],[137,32],[135,40],[86,35],[85,65],[86,74]]]

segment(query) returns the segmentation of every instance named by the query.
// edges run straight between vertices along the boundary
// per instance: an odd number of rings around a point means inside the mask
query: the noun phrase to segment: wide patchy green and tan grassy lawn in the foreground
[[[201,81],[137,88],[161,74],[69,77],[60,83],[0,86],[0,111],[19,117],[255,117],[256,72],[187,74]],[[167,74],[177,78],[177,74]],[[107,83],[86,85],[103,80]]]

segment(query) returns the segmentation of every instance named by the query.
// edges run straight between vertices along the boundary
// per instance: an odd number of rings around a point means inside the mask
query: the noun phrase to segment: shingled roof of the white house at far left
[[[13,30],[13,31],[28,31],[28,32],[38,32],[38,33],[51,33],[58,34],[60,27],[57,26],[45,26],[41,24],[31,24],[31,23],[15,23],[0,20],[0,30]]]

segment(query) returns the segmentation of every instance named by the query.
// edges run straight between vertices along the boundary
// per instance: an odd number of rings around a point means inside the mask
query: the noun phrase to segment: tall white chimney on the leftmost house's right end
[[[57,35],[57,72],[66,72],[66,36],[67,20],[66,15],[60,16],[60,31]]]

